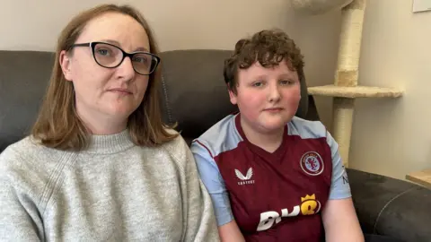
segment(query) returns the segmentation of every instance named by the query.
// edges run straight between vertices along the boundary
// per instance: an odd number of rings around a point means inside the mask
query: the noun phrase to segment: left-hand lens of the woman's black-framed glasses
[[[119,65],[123,54],[117,47],[99,43],[94,47],[94,58],[101,66],[114,67]]]

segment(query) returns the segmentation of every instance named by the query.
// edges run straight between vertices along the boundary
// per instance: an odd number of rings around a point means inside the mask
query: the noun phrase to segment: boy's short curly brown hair
[[[303,80],[303,55],[295,41],[283,30],[261,30],[251,39],[240,39],[236,43],[233,55],[224,60],[224,82],[236,94],[239,69],[247,69],[256,61],[264,67],[272,67],[284,59],[288,68]]]

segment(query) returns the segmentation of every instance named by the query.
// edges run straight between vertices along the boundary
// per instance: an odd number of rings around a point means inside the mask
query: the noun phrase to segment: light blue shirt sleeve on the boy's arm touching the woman
[[[217,225],[222,226],[233,220],[231,203],[224,186],[224,179],[220,174],[216,161],[206,147],[194,142],[190,149],[195,157],[200,179],[207,187],[216,212]]]

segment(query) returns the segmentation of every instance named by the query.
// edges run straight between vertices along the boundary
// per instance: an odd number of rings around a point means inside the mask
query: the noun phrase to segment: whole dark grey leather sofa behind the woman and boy
[[[161,53],[163,118],[178,122],[189,143],[233,112],[223,80],[225,50],[176,50]],[[0,51],[0,152],[34,122],[48,83],[53,53]],[[319,119],[302,82],[297,116]],[[376,127],[378,128],[378,127]],[[431,241],[431,190],[376,174],[347,169],[356,212],[366,233]],[[0,185],[1,186],[1,185]]]

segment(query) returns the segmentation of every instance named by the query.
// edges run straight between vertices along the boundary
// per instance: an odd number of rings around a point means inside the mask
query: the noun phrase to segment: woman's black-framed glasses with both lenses
[[[75,47],[92,48],[92,56],[98,65],[106,68],[115,68],[121,65],[124,58],[128,56],[132,61],[133,69],[136,73],[149,75],[154,72],[160,63],[160,57],[145,51],[128,53],[118,46],[105,42],[90,42],[74,44]]]

